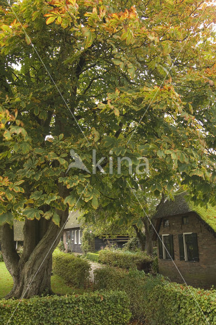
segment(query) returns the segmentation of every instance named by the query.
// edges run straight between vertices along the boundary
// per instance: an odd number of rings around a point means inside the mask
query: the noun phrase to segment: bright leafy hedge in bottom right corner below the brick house
[[[143,311],[149,325],[216,324],[215,290],[197,289],[168,281],[153,285],[152,280],[148,287],[148,282]]]

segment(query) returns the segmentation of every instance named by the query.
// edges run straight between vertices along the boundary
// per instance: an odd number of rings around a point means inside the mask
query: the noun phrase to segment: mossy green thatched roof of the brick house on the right
[[[190,201],[190,197],[186,191],[179,194],[177,193],[174,201],[165,201],[165,203],[159,207],[153,218],[161,219],[190,212],[196,213],[197,216],[216,233],[216,208],[208,206],[208,208],[205,209],[199,205],[196,206]]]

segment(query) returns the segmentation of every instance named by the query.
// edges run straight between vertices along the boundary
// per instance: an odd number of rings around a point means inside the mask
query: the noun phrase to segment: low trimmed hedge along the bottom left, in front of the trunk
[[[0,324],[6,325],[19,301],[0,300]],[[96,292],[80,296],[22,300],[10,325],[126,325],[130,319],[125,293]]]

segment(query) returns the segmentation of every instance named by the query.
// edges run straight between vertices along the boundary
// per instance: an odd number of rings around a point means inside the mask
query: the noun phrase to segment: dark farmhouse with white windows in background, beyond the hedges
[[[65,244],[65,248],[68,251],[82,253],[82,225],[79,221],[79,210],[72,211],[69,215],[69,219],[65,225],[62,240]],[[108,242],[116,244],[119,248],[127,243],[129,240],[128,236],[115,236],[115,238],[110,238],[109,236],[104,236],[103,238],[94,237],[94,240],[90,243],[91,250],[100,250],[104,248]]]

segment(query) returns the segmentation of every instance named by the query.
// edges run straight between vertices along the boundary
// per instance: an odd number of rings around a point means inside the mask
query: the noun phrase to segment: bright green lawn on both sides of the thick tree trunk
[[[51,277],[52,290],[55,294],[70,295],[72,293],[83,294],[83,289],[74,289],[66,285],[59,277]],[[0,299],[4,298],[13,287],[13,279],[8,272],[5,263],[0,262]],[[85,290],[86,291],[86,290]]]

